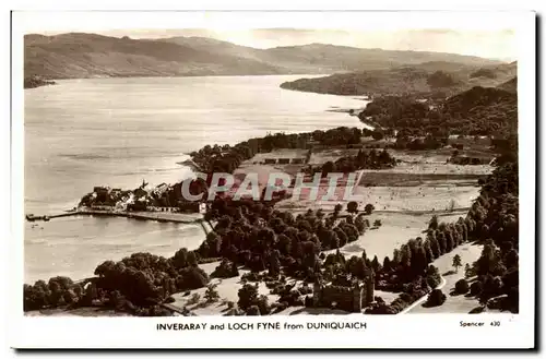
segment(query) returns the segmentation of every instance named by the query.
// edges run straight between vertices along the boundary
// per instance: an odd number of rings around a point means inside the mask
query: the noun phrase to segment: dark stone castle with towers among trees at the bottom
[[[313,307],[335,308],[347,312],[359,313],[373,301],[373,273],[369,272],[365,280],[355,280],[352,286],[335,286],[314,283]]]

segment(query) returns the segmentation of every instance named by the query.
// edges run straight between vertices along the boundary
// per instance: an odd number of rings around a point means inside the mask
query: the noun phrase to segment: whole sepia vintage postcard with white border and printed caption
[[[12,28],[14,347],[535,346],[534,13]]]

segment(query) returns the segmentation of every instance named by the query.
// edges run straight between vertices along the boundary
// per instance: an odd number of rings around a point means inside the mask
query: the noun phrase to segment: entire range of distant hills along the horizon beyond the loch
[[[205,37],[132,39],[70,33],[25,36],[25,76],[188,76],[334,73],[422,62],[498,65],[477,57],[311,44],[256,49]]]

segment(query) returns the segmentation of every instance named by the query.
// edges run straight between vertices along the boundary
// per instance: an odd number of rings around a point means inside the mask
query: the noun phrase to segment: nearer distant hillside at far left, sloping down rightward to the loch
[[[167,41],[94,34],[25,36],[25,75],[48,79],[272,74],[277,68]]]

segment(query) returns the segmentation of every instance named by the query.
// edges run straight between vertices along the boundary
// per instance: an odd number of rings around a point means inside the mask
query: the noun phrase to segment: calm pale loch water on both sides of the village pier
[[[25,89],[25,212],[73,207],[94,186],[130,188],[188,175],[177,165],[206,144],[268,132],[361,127],[329,111],[363,108],[345,96],[282,89],[301,75],[64,80]],[[25,282],[85,277],[104,260],[173,255],[203,239],[198,226],[126,218],[25,224]]]

